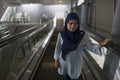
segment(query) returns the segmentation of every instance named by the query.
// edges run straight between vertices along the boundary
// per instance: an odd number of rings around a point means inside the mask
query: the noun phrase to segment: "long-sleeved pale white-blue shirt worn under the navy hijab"
[[[66,55],[66,60],[62,59],[62,44],[63,39],[61,34],[58,34],[54,59],[58,60],[60,63],[60,67],[58,68],[58,73],[61,75],[68,74],[71,78],[76,79],[79,78],[82,70],[83,63],[83,49],[86,47],[88,50],[102,55],[101,49],[97,44],[93,44],[89,39],[88,35],[85,34],[81,42],[79,43],[76,50],[71,51]]]

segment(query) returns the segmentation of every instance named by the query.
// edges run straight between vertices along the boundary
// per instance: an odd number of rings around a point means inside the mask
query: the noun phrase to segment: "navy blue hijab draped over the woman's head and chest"
[[[67,29],[67,24],[71,19],[75,19],[78,22],[78,28],[76,31],[69,31]],[[70,52],[75,50],[80,41],[82,40],[84,36],[84,31],[79,30],[79,17],[76,13],[71,12],[67,15],[65,20],[65,26],[63,31],[61,32],[61,36],[63,38],[63,44],[62,44],[62,58],[65,60],[66,55]]]

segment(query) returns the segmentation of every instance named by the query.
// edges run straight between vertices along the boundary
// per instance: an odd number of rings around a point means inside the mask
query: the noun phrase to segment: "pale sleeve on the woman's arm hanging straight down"
[[[55,59],[55,60],[58,60],[59,55],[60,55],[60,52],[61,52],[61,48],[62,48],[62,45],[61,45],[61,35],[60,35],[60,33],[59,33],[59,34],[58,34],[58,37],[57,37],[57,42],[56,42],[56,46],[55,46],[55,51],[54,51],[54,59]]]

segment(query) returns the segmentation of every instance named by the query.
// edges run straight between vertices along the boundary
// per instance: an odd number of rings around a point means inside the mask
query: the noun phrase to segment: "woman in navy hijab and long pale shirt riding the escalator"
[[[71,12],[66,17],[64,30],[58,34],[54,53],[55,67],[65,80],[79,79],[83,62],[82,51],[85,47],[102,55],[100,47],[110,41],[106,39],[101,44],[93,44],[87,34],[79,28],[79,18],[76,13]]]

